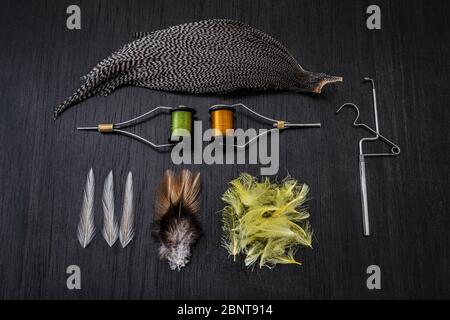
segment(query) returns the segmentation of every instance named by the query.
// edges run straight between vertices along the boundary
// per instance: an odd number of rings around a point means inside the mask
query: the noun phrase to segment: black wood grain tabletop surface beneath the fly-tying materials
[[[382,29],[366,28],[366,8],[381,7]],[[81,30],[66,28],[66,8],[78,4]],[[449,298],[449,6],[448,1],[1,1],[0,3],[0,297],[145,299],[424,299]],[[341,75],[319,97],[282,93],[189,96],[122,88],[93,97],[54,122],[54,106],[79,77],[131,39],[205,18],[232,18],[285,44],[308,70]],[[357,143],[360,106],[373,123],[375,79],[381,132],[402,148],[398,157],[367,162],[372,236],[362,235]],[[226,100],[225,100],[226,98]],[[191,263],[170,271],[151,238],[156,185],[170,153],[121,136],[76,132],[77,125],[119,121],[157,105],[185,104],[208,126],[208,106],[243,102],[270,117],[322,122],[321,129],[281,134],[278,178],[290,174],[311,188],[313,250],[303,266],[246,269],[220,245],[220,196],[240,172],[258,165],[187,165],[202,174],[204,237]],[[240,117],[240,127],[258,125]],[[259,124],[261,126],[261,124]],[[136,128],[168,137],[168,117]],[[373,149],[383,150],[383,145]],[[117,207],[126,174],[136,190],[136,237],[109,248],[97,234],[87,248],[76,239],[86,174],[96,192],[113,170]],[[95,200],[101,227],[100,196]],[[381,290],[368,290],[366,268],[378,265]],[[82,289],[68,290],[66,268],[78,265]]]

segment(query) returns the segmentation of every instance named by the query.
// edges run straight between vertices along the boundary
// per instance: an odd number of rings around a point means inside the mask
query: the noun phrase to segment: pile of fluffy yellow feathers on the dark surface
[[[234,259],[244,254],[246,266],[258,259],[260,268],[300,265],[294,258],[298,246],[312,248],[308,192],[306,184],[289,177],[272,183],[241,174],[222,196],[223,246]]]

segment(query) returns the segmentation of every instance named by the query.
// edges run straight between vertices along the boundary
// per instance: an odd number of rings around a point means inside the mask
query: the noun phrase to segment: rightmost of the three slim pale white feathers
[[[133,200],[133,175],[128,173],[123,197],[122,220],[120,222],[120,243],[125,248],[134,237],[134,200]]]

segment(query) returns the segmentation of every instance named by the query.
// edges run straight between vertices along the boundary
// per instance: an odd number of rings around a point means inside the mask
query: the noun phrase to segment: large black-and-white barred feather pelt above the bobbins
[[[237,90],[320,93],[324,85],[342,81],[342,77],[304,70],[279,41],[226,19],[141,33],[82,79],[84,84],[55,108],[54,119],[90,96],[107,96],[125,85],[190,94]]]

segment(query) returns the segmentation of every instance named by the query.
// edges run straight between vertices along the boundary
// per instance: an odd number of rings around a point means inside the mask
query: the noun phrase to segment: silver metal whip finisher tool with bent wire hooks
[[[367,157],[383,157],[383,156],[397,156],[400,154],[400,147],[396,145],[394,142],[380,134],[379,124],[378,124],[378,107],[377,107],[377,95],[375,90],[375,84],[373,79],[364,78],[363,82],[370,82],[372,85],[372,104],[373,104],[373,115],[375,121],[375,129],[372,129],[365,123],[358,123],[359,119],[359,109],[354,103],[344,103],[339,109],[336,111],[336,114],[339,113],[344,107],[351,107],[356,112],[356,117],[353,120],[354,127],[362,127],[366,131],[373,134],[372,137],[364,137],[359,140],[359,180],[361,187],[361,212],[362,212],[362,222],[363,222],[363,234],[364,236],[370,235],[370,224],[369,224],[369,207],[367,201],[367,181],[366,181],[366,158]],[[390,152],[386,153],[364,153],[364,142],[381,140],[385,144],[389,145]]]

